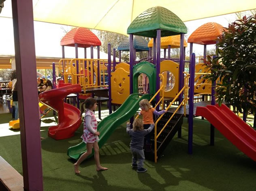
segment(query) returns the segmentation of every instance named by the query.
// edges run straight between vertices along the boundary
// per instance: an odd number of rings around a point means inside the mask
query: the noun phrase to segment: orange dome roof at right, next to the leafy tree
[[[222,35],[224,27],[218,23],[205,23],[198,27],[188,38],[188,42],[195,44],[216,44],[216,40]]]

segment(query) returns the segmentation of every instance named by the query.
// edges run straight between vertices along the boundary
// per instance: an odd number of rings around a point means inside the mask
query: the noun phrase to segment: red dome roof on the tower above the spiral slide
[[[98,37],[84,27],[76,27],[70,30],[60,41],[61,46],[75,46],[75,43],[81,48],[101,45]]]

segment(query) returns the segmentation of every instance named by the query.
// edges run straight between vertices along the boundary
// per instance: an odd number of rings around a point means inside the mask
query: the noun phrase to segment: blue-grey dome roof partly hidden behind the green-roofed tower
[[[133,47],[137,52],[149,50],[147,43],[147,40],[140,36],[133,37]],[[123,42],[121,42],[117,47],[117,50],[130,51],[130,38],[128,37]]]

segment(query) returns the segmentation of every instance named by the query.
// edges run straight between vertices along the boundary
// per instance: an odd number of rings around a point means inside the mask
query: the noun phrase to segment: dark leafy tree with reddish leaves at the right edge
[[[225,101],[239,112],[256,113],[256,14],[230,23],[217,43],[218,57],[207,57],[207,78],[216,88],[218,103]],[[254,122],[255,124],[255,122]]]

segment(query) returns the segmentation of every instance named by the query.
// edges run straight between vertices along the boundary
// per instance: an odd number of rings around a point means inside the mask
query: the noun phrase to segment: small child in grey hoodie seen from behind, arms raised
[[[126,132],[131,136],[130,149],[132,152],[132,167],[137,168],[137,172],[146,172],[147,169],[143,168],[143,162],[145,160],[143,143],[144,136],[149,134],[154,128],[155,124],[151,124],[148,129],[143,129],[143,121],[141,119],[134,120],[130,128],[130,123],[126,124]],[[137,164],[138,161],[138,164]]]

